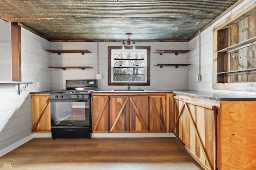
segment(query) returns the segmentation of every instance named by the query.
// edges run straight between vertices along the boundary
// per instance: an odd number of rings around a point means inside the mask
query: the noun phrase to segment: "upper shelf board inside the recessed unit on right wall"
[[[256,37],[253,37],[251,39],[248,39],[236,45],[232,45],[230,47],[224,48],[222,50],[219,50],[218,53],[230,53],[232,51],[236,51],[254,44],[256,44]]]

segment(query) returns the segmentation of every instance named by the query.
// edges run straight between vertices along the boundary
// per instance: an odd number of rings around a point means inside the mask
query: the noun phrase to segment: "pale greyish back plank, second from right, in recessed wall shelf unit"
[[[248,17],[241,20],[238,26],[239,43],[248,40]],[[248,68],[248,47],[238,50],[238,70]],[[247,82],[247,74],[238,74],[238,82]]]

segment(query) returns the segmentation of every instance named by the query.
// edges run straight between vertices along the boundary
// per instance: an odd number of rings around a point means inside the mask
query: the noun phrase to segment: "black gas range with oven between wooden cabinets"
[[[97,80],[66,80],[66,90],[52,91],[52,139],[91,137],[91,96]]]

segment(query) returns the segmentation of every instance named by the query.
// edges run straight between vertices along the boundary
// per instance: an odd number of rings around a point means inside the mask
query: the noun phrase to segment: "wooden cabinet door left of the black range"
[[[32,132],[51,132],[50,94],[32,94]]]

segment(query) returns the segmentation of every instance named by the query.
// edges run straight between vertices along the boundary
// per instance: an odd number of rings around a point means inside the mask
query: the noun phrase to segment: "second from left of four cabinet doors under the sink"
[[[110,96],[110,132],[129,132],[129,96]]]

